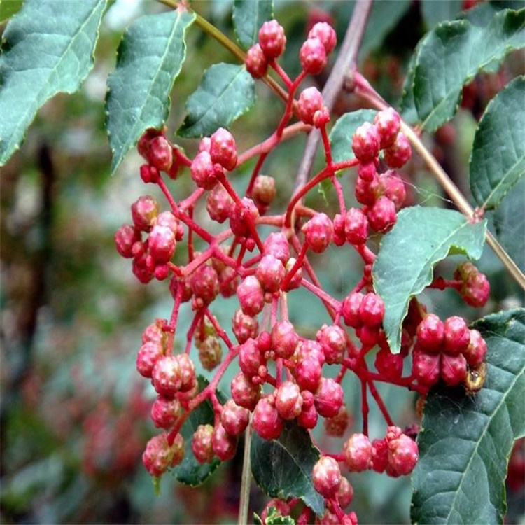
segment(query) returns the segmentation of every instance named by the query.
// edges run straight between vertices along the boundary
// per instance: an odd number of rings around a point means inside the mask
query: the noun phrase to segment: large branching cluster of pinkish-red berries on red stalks
[[[191,439],[191,453],[200,463],[235,456],[239,436],[250,422],[265,440],[279,438],[287,422],[311,430],[320,418],[328,435],[344,437],[353,418],[346,409],[342,381],[346,374],[355,374],[363,385],[362,432],[352,433],[340,454],[322,454],[312,472],[314,486],[327,503],[322,522],[354,524],[356,515],[342,511],[353,491],[339,464],[351,472],[400,476],[412,472],[418,458],[412,436],[395,426],[388,414],[377,381],[421,395],[439,379],[459,384],[482,366],[486,344],[462,318],[442,322],[414,299],[403,322],[401,351],[391,352],[382,324],[386,305],[374,292],[377,244],[370,242],[370,234],[377,237],[391,230],[405,203],[405,186],[395,170],[409,160],[411,149],[400,131],[400,117],[391,108],[379,111],[372,123],[363,123],[353,134],[348,158],[334,162],[327,131],[330,112],[323,95],[316,87],[302,90],[298,98],[296,94],[308,73],[319,73],[325,66],[335,47],[335,31],[326,22],[311,27],[300,50],[302,71],[295,80],[276,62],[286,45],[283,27],[276,20],[265,22],[258,36],[258,43],[248,50],[246,68],[260,78],[272,67],[287,94],[283,116],[270,137],[237,151],[233,134],[219,128],[201,139],[190,156],[162,131],[150,130],[139,141],[139,153],[146,160],[141,179],[160,188],[169,210],[160,211],[153,197],[140,197],[132,204],[132,224],[116,232],[116,246],[120,255],[132,258],[139,281],[166,280],[174,302],[169,319],[146,328],[137,356],[137,370],[151,379],[157,393],[151,418],[162,430],[148,442],[144,464],[151,475],[160,476],[180,463],[185,451],[181,428],[203,402],[211,403],[214,421],[198,426]],[[294,116],[297,122],[291,123]],[[325,166],[290,195],[285,210],[274,210],[280,181],[261,173],[263,162],[288,137],[312,127],[321,132]],[[255,167],[246,188],[236,190],[230,172],[252,159]],[[349,169],[357,175],[349,179],[356,200],[351,207],[346,204],[346,182],[336,175]],[[173,179],[177,183],[185,174],[193,181],[193,190],[176,201],[167,183]],[[302,202],[323,181],[335,190],[335,210],[311,209]],[[268,227],[274,231],[263,236]],[[312,255],[328,249],[334,253],[345,245],[363,260],[363,275],[342,297],[333,297],[323,289]],[[471,263],[458,267],[454,279],[438,278],[431,286],[454,288],[475,306],[482,306],[489,295],[486,278]],[[315,335],[302,333],[290,322],[287,297],[297,288],[307,290],[330,317],[330,322],[316,327]],[[218,298],[236,302],[231,323],[235,340],[218,321]],[[193,312],[193,322],[186,334],[179,334],[183,303]],[[180,353],[174,353],[176,336],[186,344]],[[366,359],[374,350],[375,370]],[[405,358],[412,359],[412,374],[403,377]],[[201,390],[196,359],[213,371],[213,379]],[[216,389],[229,367],[236,373],[231,398],[223,403]],[[369,393],[386,423],[386,435],[372,442]]]

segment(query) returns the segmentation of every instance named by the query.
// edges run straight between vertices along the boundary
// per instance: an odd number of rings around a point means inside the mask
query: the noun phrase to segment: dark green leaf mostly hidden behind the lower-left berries
[[[202,376],[199,376],[199,391],[202,391],[208,386],[209,381]],[[225,401],[224,395],[218,392],[218,398],[221,402]],[[186,423],[181,428],[181,435],[186,443],[185,454],[182,462],[174,468],[170,468],[169,472],[178,479],[181,483],[189,486],[197,486],[204,483],[216,470],[221,461],[214,458],[211,463],[199,463],[193,450],[191,449],[191,440],[195,430],[199,425],[213,425],[215,422],[214,407],[210,400],[204,401],[199,405],[186,419]]]

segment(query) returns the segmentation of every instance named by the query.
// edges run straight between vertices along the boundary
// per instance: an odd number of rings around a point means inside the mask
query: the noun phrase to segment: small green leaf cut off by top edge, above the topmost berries
[[[241,46],[244,49],[251,48],[258,41],[262,23],[273,17],[273,0],[235,0],[233,25]]]

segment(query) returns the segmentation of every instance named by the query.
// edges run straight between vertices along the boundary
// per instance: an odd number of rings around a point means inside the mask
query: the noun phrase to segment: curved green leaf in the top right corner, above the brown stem
[[[486,19],[443,22],[419,46],[402,107],[407,111],[413,96],[425,130],[433,132],[454,116],[463,85],[479,71],[493,70],[510,51],[525,47],[525,9],[500,10]]]

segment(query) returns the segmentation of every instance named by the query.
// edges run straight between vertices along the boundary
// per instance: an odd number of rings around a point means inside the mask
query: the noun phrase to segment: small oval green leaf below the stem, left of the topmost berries
[[[244,66],[214,64],[186,102],[181,137],[204,137],[228,127],[255,104],[255,82]]]

